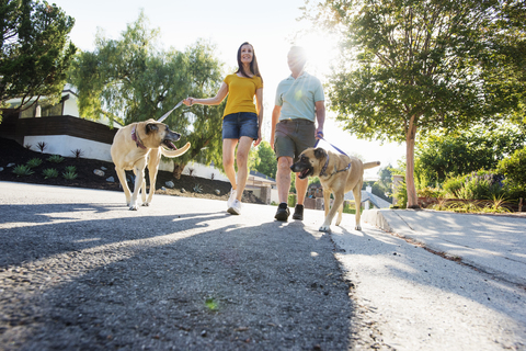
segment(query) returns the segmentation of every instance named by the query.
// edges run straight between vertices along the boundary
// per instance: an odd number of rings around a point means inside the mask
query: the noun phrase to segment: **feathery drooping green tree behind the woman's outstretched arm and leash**
[[[158,120],[188,95],[201,98],[217,92],[222,64],[214,56],[214,46],[197,41],[184,52],[164,52],[156,47],[158,35],[158,30],[148,27],[141,12],[119,39],[107,39],[99,33],[95,50],[77,56],[70,81],[78,89],[82,117],[105,116],[123,124]],[[224,109],[225,103],[182,106],[163,121],[181,133],[181,145],[192,144],[186,154],[174,159],[175,178],[191,160],[222,168]]]

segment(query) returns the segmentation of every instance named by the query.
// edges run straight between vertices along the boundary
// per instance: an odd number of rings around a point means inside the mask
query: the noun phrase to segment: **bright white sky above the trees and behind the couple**
[[[56,3],[76,21],[70,33],[71,42],[81,50],[93,50],[98,32],[107,38],[118,39],[126,25],[135,22],[141,10],[151,29],[160,30],[162,48],[183,50],[197,39],[216,45],[218,58],[225,68],[237,66],[236,55],[243,42],[254,47],[260,71],[264,79],[263,138],[268,140],[270,121],[274,107],[277,84],[287,78],[287,53],[290,45],[301,45],[308,53],[307,70],[327,81],[331,61],[336,57],[336,39],[331,35],[312,30],[312,25],[298,21],[305,0],[48,0]],[[229,73],[229,72],[225,72]],[[327,97],[325,97],[327,99]],[[329,104],[330,102],[325,100]],[[405,146],[380,144],[357,139],[344,132],[335,122],[334,112],[327,109],[324,138],[348,155],[359,155],[365,161],[380,161],[381,167],[397,161],[405,155]],[[332,147],[325,141],[319,146]],[[335,151],[334,149],[332,149]],[[366,170],[366,179],[376,178],[380,168]]]

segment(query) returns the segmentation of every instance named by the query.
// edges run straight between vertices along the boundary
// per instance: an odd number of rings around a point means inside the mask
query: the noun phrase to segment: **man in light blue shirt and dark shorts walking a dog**
[[[304,70],[307,57],[305,49],[293,46],[287,56],[290,77],[277,86],[276,102],[272,112],[271,147],[277,157],[277,194],[279,206],[275,218],[287,220],[290,166],[307,148],[313,147],[316,138],[323,137],[325,104],[323,87],[318,78]],[[315,125],[318,122],[318,127]],[[304,219],[304,201],[308,179],[296,173],[296,207],[293,219]]]

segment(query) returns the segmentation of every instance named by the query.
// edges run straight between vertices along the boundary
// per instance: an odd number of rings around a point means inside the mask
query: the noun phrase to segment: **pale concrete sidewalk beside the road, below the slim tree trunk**
[[[526,287],[526,217],[370,210],[363,220]]]

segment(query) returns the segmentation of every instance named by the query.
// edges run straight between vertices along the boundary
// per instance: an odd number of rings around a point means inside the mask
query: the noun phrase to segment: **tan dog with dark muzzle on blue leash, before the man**
[[[299,172],[299,178],[319,177],[323,186],[323,203],[325,204],[325,220],[320,231],[330,231],[332,218],[339,212],[336,226],[342,222],[343,197],[353,191],[356,204],[356,230],[362,230],[359,225],[359,206],[362,203],[362,186],[364,184],[364,169],[379,166],[380,162],[362,163],[356,157],[325,151],[322,148],[308,148],[290,169]],[[329,211],[330,196],[334,194],[334,203]]]

